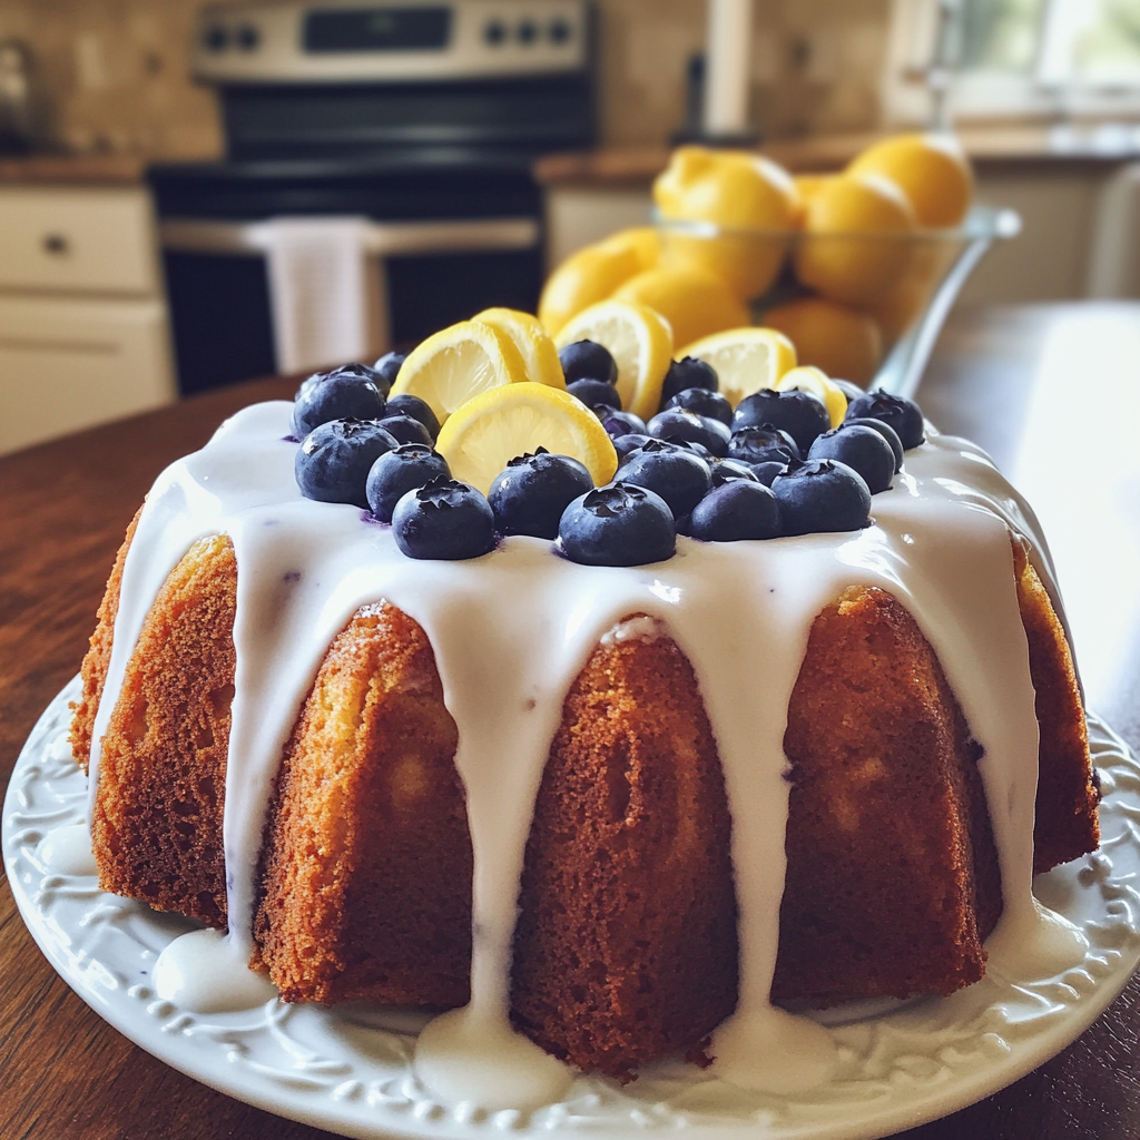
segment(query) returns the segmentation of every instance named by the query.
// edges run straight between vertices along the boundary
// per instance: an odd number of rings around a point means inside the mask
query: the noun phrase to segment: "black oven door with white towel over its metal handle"
[[[171,163],[148,181],[184,393],[367,361],[488,306],[538,302],[529,158]]]

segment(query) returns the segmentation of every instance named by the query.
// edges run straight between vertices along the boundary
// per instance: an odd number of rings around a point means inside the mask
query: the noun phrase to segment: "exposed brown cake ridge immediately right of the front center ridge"
[[[891,595],[812,625],[788,709],[788,874],[773,996],[950,994],[985,972],[1001,879],[980,749]]]

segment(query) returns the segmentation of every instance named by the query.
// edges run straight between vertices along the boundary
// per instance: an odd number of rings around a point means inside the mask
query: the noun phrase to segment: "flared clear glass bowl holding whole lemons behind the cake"
[[[661,263],[714,270],[785,332],[801,364],[911,397],[962,285],[1013,210],[976,205],[953,228],[907,234],[731,229],[654,214]]]

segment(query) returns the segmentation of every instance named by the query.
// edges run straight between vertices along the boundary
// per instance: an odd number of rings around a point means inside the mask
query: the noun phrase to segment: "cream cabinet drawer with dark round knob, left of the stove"
[[[141,188],[0,188],[0,288],[156,293]]]

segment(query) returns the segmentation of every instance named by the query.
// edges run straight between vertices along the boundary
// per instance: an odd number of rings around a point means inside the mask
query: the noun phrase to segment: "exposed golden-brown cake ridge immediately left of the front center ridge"
[[[469,996],[472,853],[431,645],[389,604],[333,640],[285,749],[254,923],[286,1001]]]

